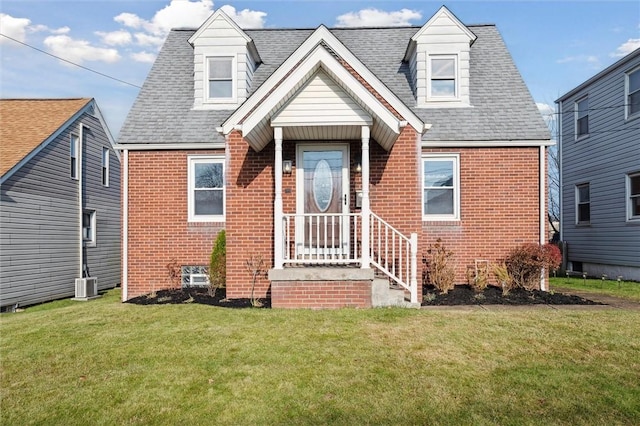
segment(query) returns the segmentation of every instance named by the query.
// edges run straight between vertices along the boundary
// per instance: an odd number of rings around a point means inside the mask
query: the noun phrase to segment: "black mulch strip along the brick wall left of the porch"
[[[270,308],[271,299],[260,299],[261,306],[256,308]],[[169,290],[158,290],[155,294],[146,294],[127,300],[126,303],[136,305],[167,305],[182,303],[199,303],[202,305],[220,306],[223,308],[251,308],[251,300],[227,299],[226,289],[218,289],[214,296],[209,295],[207,288],[189,287]]]

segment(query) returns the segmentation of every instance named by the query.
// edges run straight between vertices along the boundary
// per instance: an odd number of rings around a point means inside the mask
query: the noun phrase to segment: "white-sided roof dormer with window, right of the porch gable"
[[[469,53],[475,40],[475,34],[444,6],[411,37],[404,60],[419,108],[471,106]]]

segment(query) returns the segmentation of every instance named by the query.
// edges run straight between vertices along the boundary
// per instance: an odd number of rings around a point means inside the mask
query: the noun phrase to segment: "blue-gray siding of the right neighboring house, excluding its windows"
[[[569,260],[640,267],[640,222],[627,221],[626,176],[640,171],[640,118],[625,120],[623,62],[561,98],[563,239]],[[574,103],[589,97],[589,136],[576,140]],[[591,220],[576,225],[576,185],[589,183]]]

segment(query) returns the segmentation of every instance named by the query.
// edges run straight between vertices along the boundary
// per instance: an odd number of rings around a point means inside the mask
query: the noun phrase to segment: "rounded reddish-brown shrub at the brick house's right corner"
[[[514,287],[533,290],[540,288],[542,269],[556,269],[561,260],[556,246],[523,244],[511,250],[505,259],[505,265]]]

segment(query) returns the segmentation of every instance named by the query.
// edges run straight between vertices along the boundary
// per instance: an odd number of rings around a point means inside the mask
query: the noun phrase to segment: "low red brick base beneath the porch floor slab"
[[[274,281],[273,308],[370,308],[371,281]]]

